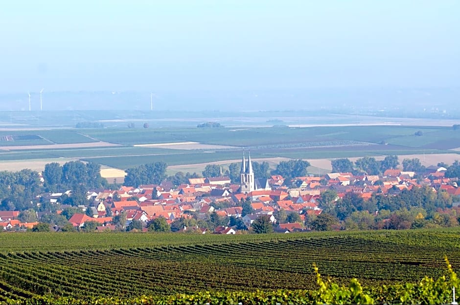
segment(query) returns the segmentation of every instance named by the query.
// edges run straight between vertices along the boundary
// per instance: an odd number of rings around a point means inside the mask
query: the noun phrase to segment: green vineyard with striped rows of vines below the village
[[[1,240],[5,235],[8,238]],[[66,240],[61,239],[60,250],[50,250],[55,247],[44,242],[43,249],[37,250],[37,245],[24,252],[9,248],[13,235],[0,237],[6,250],[0,254],[0,302],[26,302],[32,297],[56,301],[110,296],[121,300],[198,292],[315,291],[319,286],[313,264],[335,283],[346,285],[357,278],[373,289],[417,283],[424,276],[439,278],[446,270],[444,256],[454,271],[460,269],[458,229],[266,235],[261,239],[247,235],[236,240],[187,234],[162,235],[156,240],[155,234],[131,234],[143,236],[145,242],[139,246],[123,238],[117,244],[110,237],[129,238],[130,234],[99,234],[113,244],[78,250],[70,242],[65,250]],[[23,236],[19,234],[19,240]],[[95,235],[73,236],[91,240]]]

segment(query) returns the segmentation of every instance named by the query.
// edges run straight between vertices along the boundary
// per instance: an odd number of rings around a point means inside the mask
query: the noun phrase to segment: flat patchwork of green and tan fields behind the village
[[[415,136],[421,131],[421,136]],[[92,161],[105,167],[127,169],[164,161],[169,166],[191,166],[239,160],[250,150],[260,160],[334,159],[386,155],[445,154],[426,158],[433,164],[455,160],[460,154],[460,131],[430,126],[316,126],[309,128],[103,128],[0,131],[0,165],[40,170],[41,160],[61,158]],[[11,140],[13,139],[13,140]],[[449,155],[449,157],[447,157]],[[450,157],[454,155],[454,157]],[[16,166],[15,166],[16,161]],[[449,164],[452,162],[448,162]],[[194,166],[197,165],[197,166]],[[427,164],[432,165],[432,164]],[[42,168],[43,169],[43,168]],[[312,173],[330,166],[313,166]],[[175,169],[171,168],[174,172]]]

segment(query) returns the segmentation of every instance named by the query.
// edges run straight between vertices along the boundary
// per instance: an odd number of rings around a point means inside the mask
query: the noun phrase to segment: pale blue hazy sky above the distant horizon
[[[0,92],[458,87],[459,14],[459,0],[2,1]]]

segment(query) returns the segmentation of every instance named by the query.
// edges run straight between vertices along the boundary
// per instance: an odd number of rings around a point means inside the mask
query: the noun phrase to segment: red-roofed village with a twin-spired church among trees
[[[366,201],[375,194],[398,196],[405,190],[429,188],[433,193],[443,192],[455,199],[460,195],[457,178],[444,177],[446,171],[442,166],[429,166],[423,176],[399,169],[386,170],[382,175],[329,173],[295,177],[286,183],[281,175],[255,178],[251,157],[246,160],[243,155],[238,184],[231,183],[228,176],[189,178],[188,183],[178,186],[165,180],[160,184],[121,186],[116,190],[88,190],[87,206],[60,204],[63,195],[72,196],[70,190],[65,193],[42,194],[39,204],[59,205],[55,214],[63,214],[67,209],[67,214],[64,213],[69,216],[67,230],[69,224],[77,230],[91,222],[94,226],[90,231],[119,231],[128,228],[148,231],[149,223],[161,219],[167,223],[167,231],[171,228],[175,232],[237,234],[247,232],[254,221],[265,217],[273,224],[275,232],[290,233],[311,231],[312,226],[309,224],[312,220],[322,215],[326,206],[333,206],[346,194],[354,194]],[[334,197],[327,199],[324,194],[333,194]],[[452,207],[458,207],[458,203],[453,202]],[[73,209],[71,215],[69,209]],[[20,213],[0,211],[3,230],[35,230],[40,223],[43,227],[43,221],[39,220],[49,217],[51,212],[35,212],[38,221],[32,222],[22,222],[19,219]],[[377,215],[379,211],[369,210],[367,213]],[[203,225],[206,224],[204,220],[209,220],[211,215],[214,218],[211,225]],[[198,222],[184,221],[186,219]],[[178,227],[180,220],[182,222]],[[62,224],[51,224],[48,222],[45,227],[50,227],[51,231],[66,230]],[[341,230],[344,226],[337,223],[329,229]]]

